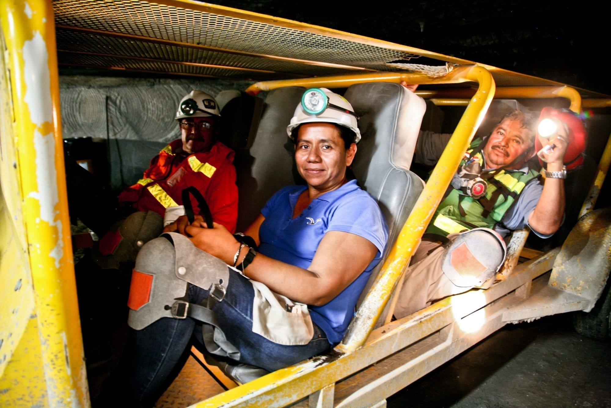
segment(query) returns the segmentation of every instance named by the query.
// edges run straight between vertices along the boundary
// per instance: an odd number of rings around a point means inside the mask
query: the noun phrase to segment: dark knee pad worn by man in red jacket
[[[154,211],[134,212],[100,239],[92,259],[103,269],[119,269],[120,262],[133,262],[142,246],[161,232],[161,215]]]

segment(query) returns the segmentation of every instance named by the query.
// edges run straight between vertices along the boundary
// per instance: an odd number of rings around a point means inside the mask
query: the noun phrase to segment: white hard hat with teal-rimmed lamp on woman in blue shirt
[[[342,95],[326,88],[310,88],[304,92],[301,103],[295,108],[287,133],[291,136],[293,129],[304,123],[328,122],[351,129],[356,134],[354,143],[359,143],[357,119],[352,105]]]

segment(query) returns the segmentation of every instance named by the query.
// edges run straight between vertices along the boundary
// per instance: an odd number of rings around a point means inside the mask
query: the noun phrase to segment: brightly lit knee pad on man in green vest
[[[506,254],[505,241],[497,232],[475,228],[450,240],[441,269],[456,286],[489,287]]]

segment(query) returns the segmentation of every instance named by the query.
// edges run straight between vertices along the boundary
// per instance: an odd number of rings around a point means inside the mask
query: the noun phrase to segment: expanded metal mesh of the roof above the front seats
[[[303,29],[166,4],[137,0],[55,0],[53,6],[56,24],[60,25],[57,29],[59,50],[115,56],[137,55],[301,75],[335,75],[349,72],[349,67],[355,67],[355,70],[360,67],[388,71],[392,68],[385,66],[385,62],[417,57],[411,53]],[[84,28],[90,32],[74,32],[61,26]],[[119,33],[123,38],[112,38],[105,32]],[[137,37],[126,39],[129,36]],[[152,41],[147,42],[147,38]],[[155,39],[174,44],[154,43]],[[194,50],[193,47],[211,47],[216,50]],[[68,59],[64,59],[65,56],[63,54],[60,58],[60,64],[70,64]],[[329,67],[329,64],[348,67]],[[246,76],[263,78],[252,73]]]

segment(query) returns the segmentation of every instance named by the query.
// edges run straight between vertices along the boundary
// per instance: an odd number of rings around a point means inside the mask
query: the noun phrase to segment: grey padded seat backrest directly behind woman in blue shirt
[[[422,180],[409,166],[426,105],[422,98],[395,83],[356,84],[348,88],[345,97],[360,116],[362,139],[357,145],[354,174],[361,187],[378,201],[389,226],[384,259],[423,188]],[[382,262],[371,273],[360,300],[381,266]]]

